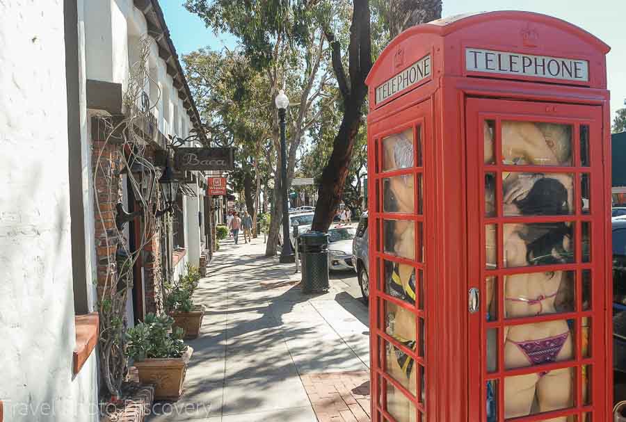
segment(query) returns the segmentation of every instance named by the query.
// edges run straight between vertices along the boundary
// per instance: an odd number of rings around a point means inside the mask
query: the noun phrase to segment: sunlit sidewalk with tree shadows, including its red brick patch
[[[341,280],[304,295],[294,264],[264,252],[263,238],[222,242],[184,394],[150,422],[369,421],[367,307]]]

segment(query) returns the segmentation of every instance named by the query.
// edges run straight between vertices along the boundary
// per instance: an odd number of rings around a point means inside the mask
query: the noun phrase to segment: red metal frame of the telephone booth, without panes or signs
[[[497,40],[493,34],[498,33]],[[522,37],[532,33],[533,42]],[[481,75],[465,72],[464,47],[523,54],[578,58],[588,60],[588,83],[555,81],[540,78],[511,78],[506,75]],[[401,54],[398,54],[401,51]],[[371,326],[371,392],[374,422],[403,422],[386,409],[386,384],[404,393],[416,407],[416,421],[485,422],[485,382],[500,378],[502,397],[505,375],[522,375],[538,371],[537,366],[504,371],[504,348],[499,348],[499,372],[485,370],[484,339],[488,328],[496,328],[502,336],[505,325],[529,322],[573,319],[576,341],[575,359],[541,367],[541,370],[575,367],[577,382],[576,405],[549,414],[524,416],[511,421],[541,421],[548,417],[593,412],[593,422],[609,419],[612,408],[612,350],[611,350],[611,227],[610,227],[610,133],[609,93],[606,90],[605,55],[609,47],[592,35],[559,19],[521,12],[483,13],[446,22],[413,27],[399,35],[383,51],[374,65],[367,83],[370,113],[368,117],[369,213],[370,213],[370,326]],[[431,76],[380,104],[375,102],[376,87],[401,72],[426,54],[431,54]],[[401,59],[398,57],[401,56]],[[398,60],[403,60],[398,63]],[[499,136],[496,140],[494,165],[483,165],[481,119],[497,122],[529,120],[563,122],[575,125],[571,167],[515,166],[501,164]],[[579,125],[589,126],[591,166],[579,163]],[[423,167],[381,172],[382,139],[408,127],[422,131]],[[415,137],[414,137],[415,138]],[[417,138],[416,138],[417,139]],[[417,151],[417,149],[416,149]],[[416,161],[417,163],[417,161]],[[492,218],[484,216],[485,172],[565,172],[575,175],[576,209],[569,216],[506,217],[501,207]],[[423,175],[422,215],[383,213],[383,178],[393,175]],[[580,177],[591,175],[591,213],[584,214],[580,205]],[[497,204],[501,203],[502,181],[497,180]],[[415,180],[417,202],[417,179]],[[423,225],[424,261],[403,259],[383,252],[383,220],[387,218]],[[575,263],[559,266],[503,268],[485,270],[485,224],[508,222],[574,222]],[[591,224],[591,261],[581,263],[581,222]],[[478,245],[476,239],[479,239]],[[503,263],[504,247],[499,238],[497,257]],[[417,249],[417,247],[416,247]],[[423,271],[424,309],[385,294],[383,260],[410,264]],[[485,277],[493,275],[501,287],[505,275],[547,270],[572,270],[576,275],[575,311],[568,314],[544,315],[533,318],[504,320],[504,301],[498,300],[498,320],[487,322],[484,309],[477,314],[467,311],[467,289],[484,291]],[[592,300],[590,310],[582,309],[581,274],[592,271]],[[496,289],[501,299],[503,289]],[[408,309],[416,318],[416,339],[419,341],[419,320],[424,319],[426,342],[424,357],[406,348],[385,333],[385,302]],[[417,302],[416,302],[417,306]],[[591,317],[590,357],[581,356],[581,318]],[[424,366],[426,400],[416,396],[385,373],[385,342]],[[581,366],[593,368],[591,394],[593,401],[581,405]],[[419,374],[416,378],[419,378]],[[416,391],[419,396],[419,380]],[[504,421],[504,406],[499,409],[499,422]],[[419,415],[423,413],[423,419]],[[579,421],[581,418],[579,417]],[[582,422],[582,421],[581,421]],[[589,422],[589,421],[586,421]]]

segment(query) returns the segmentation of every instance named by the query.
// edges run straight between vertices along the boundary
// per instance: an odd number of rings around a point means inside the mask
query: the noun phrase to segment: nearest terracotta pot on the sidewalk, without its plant
[[[187,364],[192,353],[193,348],[187,346],[182,357],[135,361],[139,381],[142,384],[154,385],[156,400],[178,400],[182,394]]]

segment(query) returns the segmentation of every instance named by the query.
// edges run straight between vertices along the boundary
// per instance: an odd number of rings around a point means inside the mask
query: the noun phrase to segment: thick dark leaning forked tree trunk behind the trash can
[[[332,145],[332,153],[324,168],[319,186],[312,230],[328,232],[335,209],[342,200],[354,143],[362,121],[362,107],[367,95],[365,79],[371,70],[371,31],[369,0],[353,0],[350,44],[348,45],[348,74],[342,63],[341,44],[335,35],[326,32],[332,49],[332,68],[337,76],[344,100],[344,117]]]

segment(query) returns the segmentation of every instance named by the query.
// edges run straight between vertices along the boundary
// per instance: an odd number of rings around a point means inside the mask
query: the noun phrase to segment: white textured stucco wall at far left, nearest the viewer
[[[63,1],[0,2],[0,399],[6,421],[97,421],[72,378]]]

